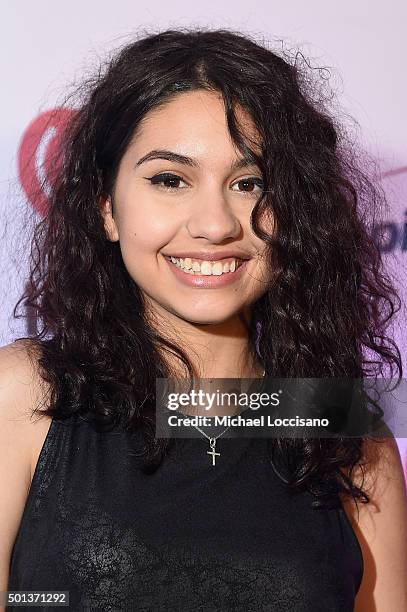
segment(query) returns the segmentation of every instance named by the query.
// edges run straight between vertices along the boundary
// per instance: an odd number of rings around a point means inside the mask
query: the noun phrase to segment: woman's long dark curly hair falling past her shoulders
[[[24,305],[41,322],[29,339],[51,389],[46,414],[141,429],[148,472],[170,444],[155,438],[153,426],[156,378],[171,376],[163,351],[191,377],[193,369],[182,348],[148,323],[119,244],[106,239],[98,202],[112,194],[146,113],[195,89],[221,93],[233,142],[263,175],[251,221],[268,245],[273,283],[253,305],[248,335],[249,346],[258,340],[267,375],[360,378],[387,366],[402,376],[400,351],[385,335],[400,298],[372,238],[385,196],[320,85],[321,71],[301,53],[290,61],[249,35],[200,28],[144,34],[81,86],[49,207],[35,227],[29,282],[14,308],[15,317]],[[261,154],[239,127],[237,105],[253,119]],[[264,211],[276,221],[273,235],[260,229]],[[312,491],[316,507],[337,504],[339,494],[366,503],[353,478],[363,440],[274,439],[271,465],[293,489]]]

